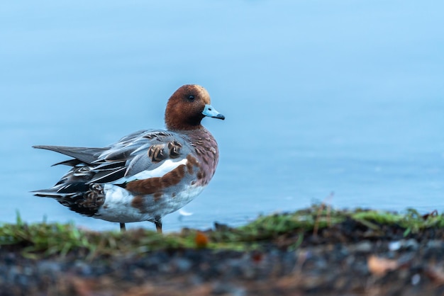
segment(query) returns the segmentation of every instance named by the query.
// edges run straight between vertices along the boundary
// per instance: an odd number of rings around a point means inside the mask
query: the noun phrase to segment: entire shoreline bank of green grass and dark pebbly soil
[[[0,226],[0,295],[443,295],[444,217],[326,205],[157,234]]]

